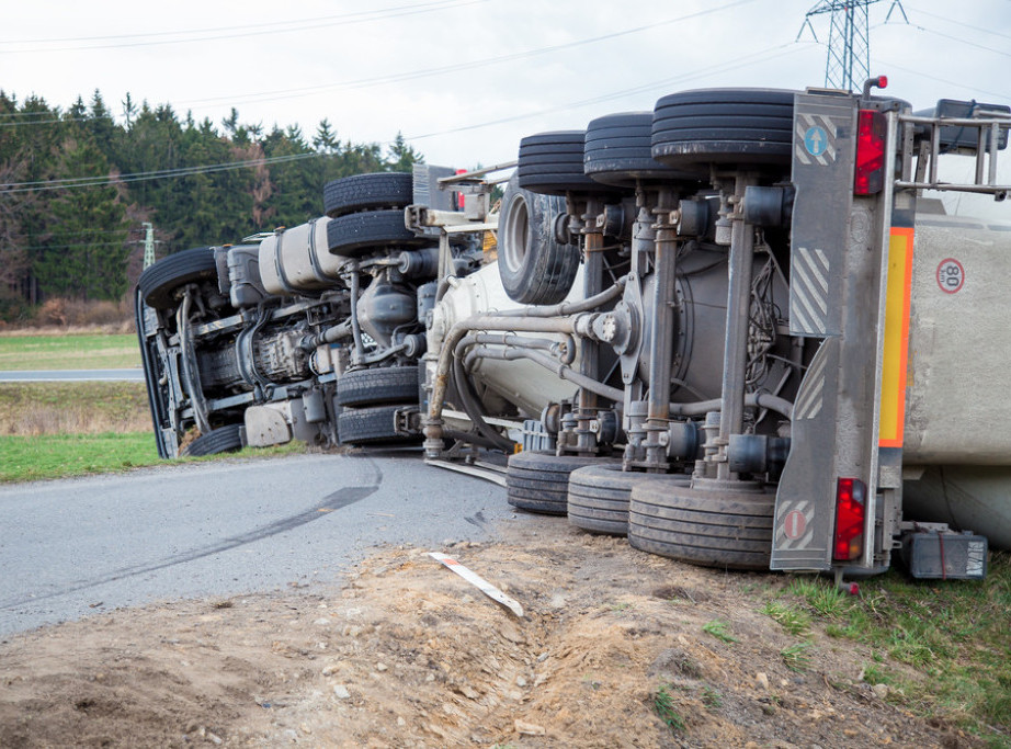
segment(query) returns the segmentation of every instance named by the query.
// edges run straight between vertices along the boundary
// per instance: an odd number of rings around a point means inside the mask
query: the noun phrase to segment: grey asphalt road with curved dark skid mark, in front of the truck
[[[513,517],[503,488],[402,453],[0,488],[0,635],[162,599],[333,581],[372,546],[484,541]]]

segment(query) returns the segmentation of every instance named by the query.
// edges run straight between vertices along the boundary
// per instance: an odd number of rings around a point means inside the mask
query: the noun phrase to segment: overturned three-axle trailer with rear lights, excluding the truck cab
[[[542,409],[523,438],[542,450],[510,458],[519,508],[704,565],[841,576],[901,549],[921,577],[984,575],[986,540],[948,525],[1011,546],[998,286],[1011,227],[944,216],[920,193],[1002,198],[1008,109],[917,115],[871,88],[680,92],[524,138],[511,188],[565,213],[529,227],[525,254],[500,250],[503,288],[530,306],[472,305],[429,330],[428,456],[454,367],[480,385],[479,363],[534,362],[570,395],[487,370],[514,409]],[[973,182],[936,178],[948,152],[976,159]],[[531,269],[559,266],[569,243],[575,296],[510,288],[516,269],[526,286],[554,277]],[[509,332],[561,336],[572,364],[496,338]]]

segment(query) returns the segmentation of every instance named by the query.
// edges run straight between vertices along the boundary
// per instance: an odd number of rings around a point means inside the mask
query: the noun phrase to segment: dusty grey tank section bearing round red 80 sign
[[[1011,548],[1011,224],[917,217],[906,515]]]

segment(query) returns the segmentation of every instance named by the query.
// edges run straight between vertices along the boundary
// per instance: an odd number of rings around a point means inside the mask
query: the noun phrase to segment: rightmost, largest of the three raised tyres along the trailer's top
[[[663,97],[652,118],[652,158],[669,167],[711,163],[788,169],[794,91],[700,89]]]

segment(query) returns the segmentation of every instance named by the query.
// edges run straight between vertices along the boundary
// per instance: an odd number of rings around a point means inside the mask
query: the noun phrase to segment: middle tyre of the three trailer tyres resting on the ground
[[[691,479],[688,476],[623,472],[621,463],[577,468],[569,475],[569,522],[583,531],[627,535],[632,488],[652,480],[688,486]]]

